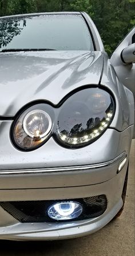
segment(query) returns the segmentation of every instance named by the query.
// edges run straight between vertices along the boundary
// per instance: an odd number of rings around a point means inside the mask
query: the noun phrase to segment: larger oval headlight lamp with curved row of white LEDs
[[[62,105],[57,138],[69,147],[82,147],[100,136],[114,114],[111,95],[99,88],[78,91]]]

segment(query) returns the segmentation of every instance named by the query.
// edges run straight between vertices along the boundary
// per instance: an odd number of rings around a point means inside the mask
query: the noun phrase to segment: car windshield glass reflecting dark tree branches
[[[0,18],[0,51],[55,49],[93,51],[81,14],[46,14]]]

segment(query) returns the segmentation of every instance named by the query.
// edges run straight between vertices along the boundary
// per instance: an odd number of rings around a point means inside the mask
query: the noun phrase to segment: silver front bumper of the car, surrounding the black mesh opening
[[[27,153],[13,147],[6,126],[9,122],[1,126],[0,133],[0,202],[70,200],[105,194],[108,206],[99,217],[62,223],[20,223],[0,207],[0,239],[53,240],[91,234],[121,209],[133,126],[123,132],[107,129],[96,142],[79,150],[62,148],[50,139]],[[125,156],[125,166],[117,174]]]

